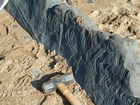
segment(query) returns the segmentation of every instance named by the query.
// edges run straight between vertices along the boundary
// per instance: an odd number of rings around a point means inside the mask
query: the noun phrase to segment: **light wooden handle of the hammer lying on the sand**
[[[63,83],[57,85],[57,88],[66,97],[66,99],[70,102],[71,105],[82,105],[80,101],[74,97],[74,95]]]

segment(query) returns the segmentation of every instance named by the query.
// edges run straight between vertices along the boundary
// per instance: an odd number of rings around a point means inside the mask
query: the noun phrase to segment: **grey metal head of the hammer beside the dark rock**
[[[42,90],[44,93],[51,93],[53,91],[56,91],[58,84],[63,83],[67,86],[69,84],[72,84],[73,82],[74,78],[72,74],[61,75],[43,83]]]

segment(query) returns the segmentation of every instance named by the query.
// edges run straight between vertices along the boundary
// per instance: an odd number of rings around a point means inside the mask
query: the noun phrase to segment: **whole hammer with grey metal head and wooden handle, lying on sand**
[[[55,77],[42,84],[42,90],[44,93],[51,93],[58,89],[69,101],[71,105],[81,105],[81,103],[74,97],[74,95],[66,87],[74,82],[72,74],[65,74]]]

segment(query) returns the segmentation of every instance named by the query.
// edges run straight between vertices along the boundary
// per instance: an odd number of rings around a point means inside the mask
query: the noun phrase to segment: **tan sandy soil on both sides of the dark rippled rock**
[[[96,1],[88,4],[85,0],[73,0],[76,8],[96,21],[101,30],[133,38],[140,47],[139,1]],[[6,11],[0,13],[0,104],[70,105],[59,91],[43,94],[38,87],[59,73],[72,73],[66,60],[55,51],[44,51],[43,45],[33,40]],[[78,83],[68,88],[82,105],[94,105]]]

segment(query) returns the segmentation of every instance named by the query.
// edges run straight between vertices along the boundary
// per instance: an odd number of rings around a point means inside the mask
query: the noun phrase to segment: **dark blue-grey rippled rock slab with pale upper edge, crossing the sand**
[[[6,9],[46,49],[67,59],[96,105],[140,104],[134,88],[140,75],[134,40],[99,31],[63,0],[10,0]]]

